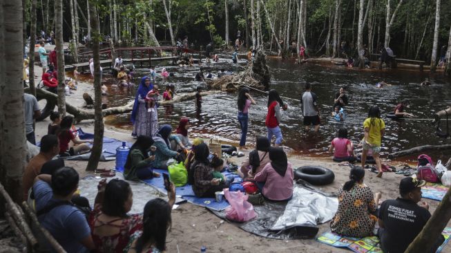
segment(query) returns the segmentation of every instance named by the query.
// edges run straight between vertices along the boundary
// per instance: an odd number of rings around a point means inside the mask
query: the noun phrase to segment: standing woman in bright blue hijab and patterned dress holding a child
[[[133,123],[132,136],[139,135],[153,136],[158,130],[158,113],[155,104],[155,110],[148,112],[146,108],[146,95],[153,89],[151,79],[147,76],[142,77],[141,84],[137,89],[135,104],[131,113],[131,122]]]

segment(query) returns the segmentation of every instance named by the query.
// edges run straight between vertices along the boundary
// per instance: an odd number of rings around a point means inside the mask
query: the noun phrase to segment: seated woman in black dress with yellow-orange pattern
[[[372,236],[377,218],[376,207],[381,193],[373,196],[373,191],[363,183],[365,169],[354,167],[349,173],[349,181],[338,191],[338,211],[330,228],[343,236]]]

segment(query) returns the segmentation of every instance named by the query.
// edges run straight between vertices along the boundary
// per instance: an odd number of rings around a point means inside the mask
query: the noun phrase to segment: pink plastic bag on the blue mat
[[[230,204],[230,207],[225,210],[227,219],[244,222],[256,218],[257,214],[253,210],[252,204],[247,202],[247,195],[244,195],[241,191],[224,189],[224,196]]]

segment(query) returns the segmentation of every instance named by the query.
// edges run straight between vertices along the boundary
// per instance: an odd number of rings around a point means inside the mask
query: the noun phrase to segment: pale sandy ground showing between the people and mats
[[[35,75],[41,76],[41,68],[35,66]],[[39,79],[35,77],[36,82]],[[82,106],[84,100],[81,95],[84,92],[93,94],[93,85],[79,82],[78,90],[72,95],[66,97],[66,101],[76,106]],[[208,97],[206,97],[208,99]],[[39,105],[44,107],[43,102]],[[47,126],[50,120],[47,118],[36,124],[36,139],[40,140],[47,133]],[[77,124],[84,131],[93,133],[93,120],[86,120]],[[175,127],[175,126],[173,126]],[[105,127],[105,136],[133,142],[131,133],[121,131],[113,127]],[[236,143],[238,145],[238,143]],[[246,152],[247,154],[248,152]],[[234,158],[236,163],[240,165],[242,158]],[[294,167],[304,165],[320,165],[332,169],[335,174],[335,181],[331,185],[321,187],[320,189],[329,193],[336,193],[341,185],[348,180],[349,167],[338,166],[334,162],[324,158],[300,158],[289,156],[289,162]],[[66,161],[66,165],[72,166],[81,177],[90,174],[85,171],[87,161]],[[99,168],[113,168],[115,162],[100,162]],[[399,181],[403,178],[401,175],[394,173],[385,173],[383,178],[376,178],[376,174],[367,171],[365,175],[365,183],[371,187],[374,192],[380,191],[383,200],[396,198],[399,195]],[[83,189],[81,189],[83,191]],[[139,195],[134,195],[135,199],[139,199]],[[434,212],[439,202],[436,200],[423,199],[430,205],[430,212]],[[313,239],[282,241],[275,239],[263,238],[249,234],[239,229],[229,222],[224,222],[220,218],[211,214],[207,209],[184,203],[172,213],[172,229],[167,237],[167,252],[200,252],[200,247],[205,245],[208,252],[349,252],[336,247],[318,243]],[[448,223],[450,226],[451,223]],[[329,231],[329,223],[319,225],[319,234]],[[447,245],[443,252],[451,252],[451,246]]]

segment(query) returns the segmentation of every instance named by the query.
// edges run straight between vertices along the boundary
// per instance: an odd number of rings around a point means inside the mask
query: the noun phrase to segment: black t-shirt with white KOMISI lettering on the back
[[[387,252],[404,252],[428,222],[430,212],[411,200],[385,200],[378,218],[383,221],[381,243]]]

